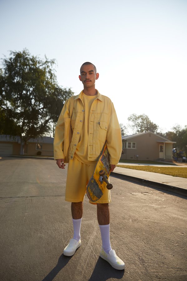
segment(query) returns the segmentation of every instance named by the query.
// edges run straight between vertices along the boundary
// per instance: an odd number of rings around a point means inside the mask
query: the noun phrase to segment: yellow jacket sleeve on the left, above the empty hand
[[[70,100],[65,101],[65,104],[62,108],[62,111],[60,113],[59,119],[56,124],[55,128],[55,137],[53,142],[53,148],[54,148],[54,159],[64,159],[64,132],[65,132],[65,118],[70,118]]]

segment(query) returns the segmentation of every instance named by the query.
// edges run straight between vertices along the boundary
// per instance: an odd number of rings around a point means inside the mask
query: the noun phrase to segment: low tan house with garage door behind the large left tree
[[[24,155],[53,156],[53,140],[54,138],[47,136],[30,139],[25,146]],[[20,155],[19,136],[0,135],[0,156],[2,155]]]

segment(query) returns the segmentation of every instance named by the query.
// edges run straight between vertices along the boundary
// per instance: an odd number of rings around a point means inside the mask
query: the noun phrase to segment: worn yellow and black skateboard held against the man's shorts
[[[97,201],[104,193],[105,188],[112,189],[113,185],[108,182],[110,175],[110,161],[107,149],[107,141],[103,145],[99,155],[97,164],[95,166],[93,175],[88,182],[86,193],[92,202]]]

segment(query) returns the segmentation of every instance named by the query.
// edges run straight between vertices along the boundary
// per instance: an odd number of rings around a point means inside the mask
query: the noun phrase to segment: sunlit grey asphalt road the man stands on
[[[73,235],[66,171],[54,160],[0,160],[0,280],[187,280],[187,197],[111,177],[111,245],[125,261],[99,257],[96,206],[84,200],[81,247]]]

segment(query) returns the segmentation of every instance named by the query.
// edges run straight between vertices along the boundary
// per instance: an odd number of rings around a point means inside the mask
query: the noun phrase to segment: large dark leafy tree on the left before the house
[[[27,49],[10,52],[0,70],[0,132],[20,136],[21,150],[31,138],[52,130],[73,92],[57,85],[55,60],[41,60]]]

